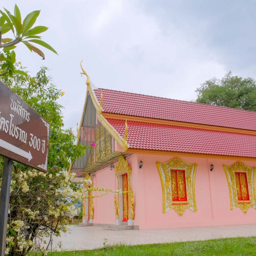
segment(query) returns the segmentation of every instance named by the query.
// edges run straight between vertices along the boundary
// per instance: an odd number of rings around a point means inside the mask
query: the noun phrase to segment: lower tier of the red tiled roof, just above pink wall
[[[125,121],[107,121],[123,137]],[[127,124],[130,148],[256,157],[256,135],[134,121]]]

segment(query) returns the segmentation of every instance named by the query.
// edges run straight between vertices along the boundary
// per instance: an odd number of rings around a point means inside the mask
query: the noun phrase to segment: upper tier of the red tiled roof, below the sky
[[[101,91],[104,112],[256,130],[256,112],[107,89],[94,90],[99,102]]]

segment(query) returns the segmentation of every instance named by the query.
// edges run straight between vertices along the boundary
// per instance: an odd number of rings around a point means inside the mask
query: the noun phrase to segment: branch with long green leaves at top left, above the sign
[[[5,12],[0,10],[0,68],[2,70],[0,76],[6,73],[23,72],[22,70],[16,70],[14,65],[16,62],[16,54],[13,49],[16,48],[16,44],[18,43],[25,44],[31,52],[36,52],[43,59],[45,59],[45,56],[42,50],[35,47],[32,43],[39,44],[57,54],[49,44],[41,39],[41,36],[38,36],[38,34],[47,31],[48,27],[33,27],[40,11],[32,11],[22,21],[20,9],[17,5],[14,7],[14,15],[7,9],[4,8],[4,10]],[[12,32],[12,37],[14,38],[2,37],[8,32]]]

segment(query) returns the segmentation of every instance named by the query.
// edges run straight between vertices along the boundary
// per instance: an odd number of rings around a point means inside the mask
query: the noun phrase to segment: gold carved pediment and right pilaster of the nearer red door
[[[133,193],[131,185],[130,185],[130,175],[132,172],[132,167],[128,166],[128,163],[123,158],[123,156],[119,156],[118,164],[117,164],[116,172],[115,172],[115,175],[117,176],[117,181],[118,181],[118,189],[119,189],[118,175],[124,174],[126,172],[127,172],[127,181],[128,181],[128,191],[129,191],[129,193],[128,193],[128,219],[133,220],[134,219],[134,193]]]

